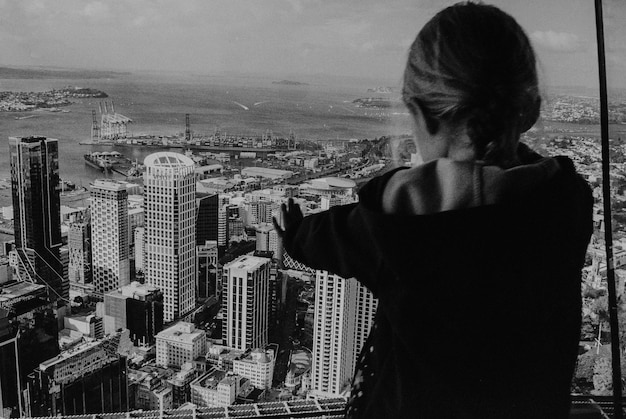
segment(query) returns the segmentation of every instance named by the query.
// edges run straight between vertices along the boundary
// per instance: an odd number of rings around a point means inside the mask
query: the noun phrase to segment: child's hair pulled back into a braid
[[[533,48],[519,24],[495,6],[457,3],[435,15],[411,45],[402,97],[428,131],[467,121],[476,157],[508,166],[519,135],[539,117]]]

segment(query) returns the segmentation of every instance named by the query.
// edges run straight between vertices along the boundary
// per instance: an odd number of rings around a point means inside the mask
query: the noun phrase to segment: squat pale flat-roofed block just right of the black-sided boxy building
[[[206,352],[206,332],[180,322],[156,336],[157,365],[180,368]]]

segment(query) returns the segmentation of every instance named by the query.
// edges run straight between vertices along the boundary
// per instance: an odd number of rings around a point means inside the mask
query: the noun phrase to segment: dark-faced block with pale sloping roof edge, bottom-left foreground
[[[28,376],[26,416],[127,411],[128,332],[83,343],[39,364]]]

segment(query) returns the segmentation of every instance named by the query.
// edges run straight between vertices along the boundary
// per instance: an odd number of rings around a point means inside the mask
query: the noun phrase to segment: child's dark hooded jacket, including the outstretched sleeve
[[[491,183],[492,168],[453,165],[451,196],[467,199],[452,205],[441,162],[416,172],[430,185],[421,191],[413,172],[394,170],[358,204],[285,233],[292,257],[356,277],[379,299],[348,416],[568,417],[593,198],[568,158],[526,150],[523,160],[535,170],[494,170]],[[421,208],[420,198],[438,204]]]

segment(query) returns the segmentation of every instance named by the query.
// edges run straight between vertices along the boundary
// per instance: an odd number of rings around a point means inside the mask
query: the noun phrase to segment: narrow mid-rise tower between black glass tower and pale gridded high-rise
[[[67,233],[70,250],[68,276],[70,283],[88,284],[91,282],[91,226],[78,222],[70,224]]]

